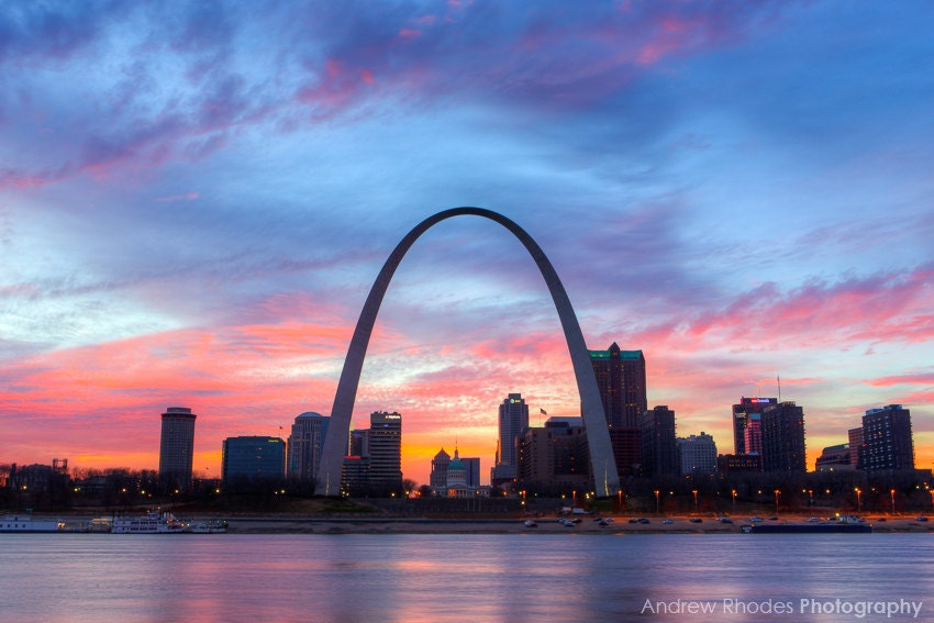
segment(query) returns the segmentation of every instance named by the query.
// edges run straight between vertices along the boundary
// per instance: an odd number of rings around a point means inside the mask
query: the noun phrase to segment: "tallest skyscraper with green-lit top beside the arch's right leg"
[[[605,351],[590,351],[597,387],[610,429],[638,429],[648,410],[645,356],[642,351],[620,351],[613,342]]]

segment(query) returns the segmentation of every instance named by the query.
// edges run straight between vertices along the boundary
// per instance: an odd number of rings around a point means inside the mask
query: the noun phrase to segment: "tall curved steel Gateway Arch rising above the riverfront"
[[[341,470],[344,455],[347,449],[347,441],[351,431],[351,415],[354,411],[354,402],[357,398],[357,386],[360,381],[360,370],[364,366],[367,345],[369,344],[373,327],[376,323],[376,314],[389,288],[392,275],[399,267],[399,263],[405,253],[414,244],[419,236],[437,223],[454,216],[481,216],[499,223],[509,230],[522,243],[532,259],[538,266],[555,309],[561,321],[565,340],[570,352],[574,375],[577,378],[577,389],[580,393],[580,404],[583,414],[583,425],[587,430],[587,441],[590,446],[590,464],[597,494],[602,497],[614,496],[620,489],[620,479],[616,474],[616,464],[613,459],[613,449],[610,445],[610,432],[607,427],[607,418],[603,413],[603,401],[597,387],[597,377],[590,363],[590,354],[580,332],[580,324],[570,304],[567,292],[561,285],[558,274],[552,263],[545,256],[542,247],[530,236],[525,230],[516,225],[498,212],[482,208],[452,208],[429,216],[409,232],[396,246],[386,264],[376,278],[367,296],[364,309],[357,320],[351,346],[347,348],[347,357],[344,359],[344,370],[337,383],[337,392],[334,394],[334,404],[331,409],[331,422],[327,426],[327,435],[324,438],[324,448],[318,468],[318,483],[315,493],[319,496],[337,496],[341,490]]]

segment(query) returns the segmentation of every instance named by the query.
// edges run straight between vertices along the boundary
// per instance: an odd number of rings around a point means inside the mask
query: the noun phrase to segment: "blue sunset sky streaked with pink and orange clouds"
[[[934,467],[934,5],[32,2],[0,7],[0,463],[158,467],[330,414],[366,294],[423,219],[542,246],[588,347],[733,452],[804,408],[808,465],[867,409]],[[402,262],[354,412],[405,478],[488,475],[498,405],[579,414],[547,288],[496,223]]]

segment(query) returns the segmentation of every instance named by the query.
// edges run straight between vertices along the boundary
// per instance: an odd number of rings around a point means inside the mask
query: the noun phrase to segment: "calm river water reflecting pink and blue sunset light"
[[[2,623],[934,621],[934,534],[3,534],[0,582]]]

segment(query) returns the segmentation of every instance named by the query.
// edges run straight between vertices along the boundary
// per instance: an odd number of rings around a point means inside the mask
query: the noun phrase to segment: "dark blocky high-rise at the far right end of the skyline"
[[[870,409],[863,416],[863,469],[914,469],[911,411],[901,404]]]

